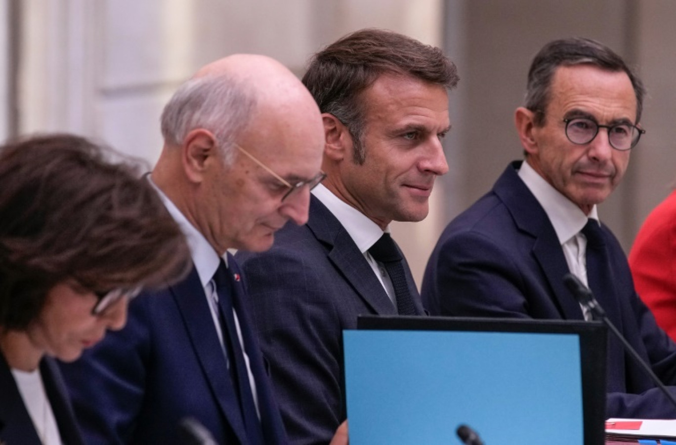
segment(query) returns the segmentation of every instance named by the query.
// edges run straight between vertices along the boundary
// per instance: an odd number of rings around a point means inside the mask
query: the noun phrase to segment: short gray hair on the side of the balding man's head
[[[162,111],[162,136],[180,145],[192,130],[214,134],[226,165],[232,163],[233,142],[256,109],[254,88],[227,74],[191,78],[182,84]]]

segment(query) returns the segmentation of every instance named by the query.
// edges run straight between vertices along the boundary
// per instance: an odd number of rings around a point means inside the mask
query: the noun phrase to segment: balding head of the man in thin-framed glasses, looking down
[[[239,54],[204,66],[166,105],[162,134],[153,181],[218,253],[264,250],[289,219],[307,220],[308,187],[295,186],[320,178],[324,127],[281,63]]]

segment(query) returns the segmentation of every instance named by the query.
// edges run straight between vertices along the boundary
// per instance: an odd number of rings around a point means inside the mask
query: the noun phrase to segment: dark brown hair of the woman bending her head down
[[[68,134],[10,142],[0,147],[0,184],[2,329],[24,330],[66,280],[103,292],[187,272],[174,219],[139,166],[112,149]]]

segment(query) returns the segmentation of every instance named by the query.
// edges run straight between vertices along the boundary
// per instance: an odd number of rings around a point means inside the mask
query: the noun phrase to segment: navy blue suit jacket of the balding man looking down
[[[229,269],[239,273],[233,257]],[[266,444],[285,444],[260,346],[235,286],[233,305],[256,379]],[[63,371],[84,438],[92,444],[179,444],[194,417],[219,444],[244,444],[245,429],[208,301],[193,268],[182,282],[130,303],[124,329],[107,334]]]

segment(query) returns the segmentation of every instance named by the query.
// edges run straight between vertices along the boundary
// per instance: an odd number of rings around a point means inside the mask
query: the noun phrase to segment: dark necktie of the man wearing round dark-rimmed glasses
[[[601,232],[601,226],[596,219],[587,219],[587,224],[582,229],[582,233],[587,238],[587,251],[585,252],[587,284],[599,303],[603,305],[604,300],[606,300],[604,294],[612,289],[606,242]]]

